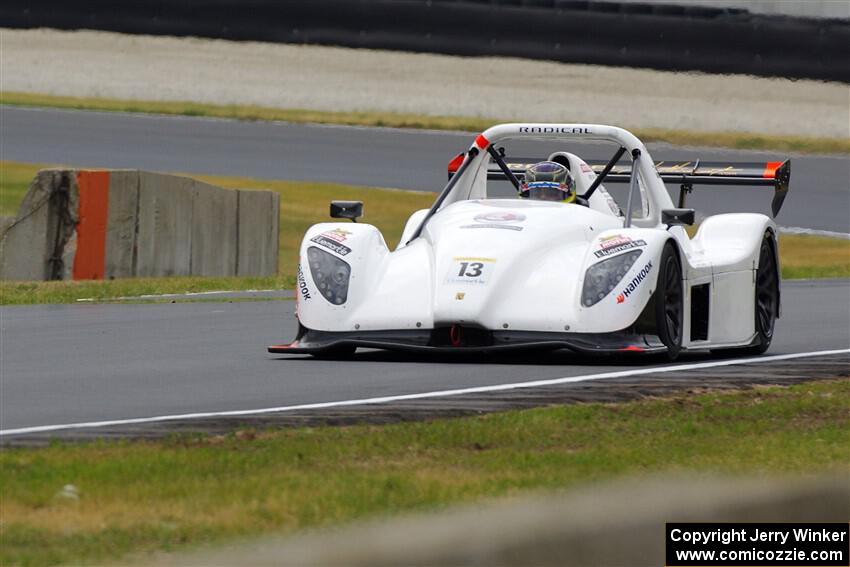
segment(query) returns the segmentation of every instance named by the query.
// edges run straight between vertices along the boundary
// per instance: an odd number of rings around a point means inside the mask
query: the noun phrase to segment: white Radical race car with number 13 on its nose
[[[507,157],[506,140],[607,140],[607,162],[568,151]],[[618,164],[626,156],[630,163]],[[566,166],[571,202],[522,199],[530,164]],[[449,164],[430,209],[413,213],[395,250],[368,224],[312,226],[300,249],[298,334],[272,353],[344,356],[357,347],[581,353],[767,350],[780,314],[776,225],[718,214],[695,236],[694,185],[768,185],[773,216],[790,163],[654,162],[630,132],[595,124],[501,124]],[[603,181],[628,184],[618,203]],[[492,187],[513,185],[509,198]],[[674,205],[665,182],[680,185]],[[622,186],[625,189],[625,186]],[[515,188],[515,190],[514,190]],[[625,202],[622,202],[625,201]],[[359,202],[331,216],[356,218]]]

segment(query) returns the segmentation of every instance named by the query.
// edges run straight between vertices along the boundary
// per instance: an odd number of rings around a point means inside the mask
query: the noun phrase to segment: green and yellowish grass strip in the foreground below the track
[[[850,381],[841,380],[387,426],[5,449],[0,564],[110,563],[616,476],[846,470],[848,408]],[[68,484],[76,494],[63,495]]]

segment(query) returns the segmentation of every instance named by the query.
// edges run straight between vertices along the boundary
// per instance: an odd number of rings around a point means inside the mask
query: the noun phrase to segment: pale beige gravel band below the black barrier
[[[0,29],[0,90],[850,137],[850,86],[507,57]]]

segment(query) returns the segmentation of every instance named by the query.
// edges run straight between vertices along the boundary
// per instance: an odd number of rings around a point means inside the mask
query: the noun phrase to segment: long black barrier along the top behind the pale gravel
[[[850,82],[850,23],[575,0],[5,0],[0,26],[99,29]],[[510,80],[505,77],[505,80]]]

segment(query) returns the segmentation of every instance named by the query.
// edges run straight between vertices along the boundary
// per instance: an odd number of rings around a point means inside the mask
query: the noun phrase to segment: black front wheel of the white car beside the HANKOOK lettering
[[[658,287],[655,288],[655,329],[667,347],[667,359],[675,360],[682,350],[684,300],[682,266],[673,244],[667,243],[659,262]]]

